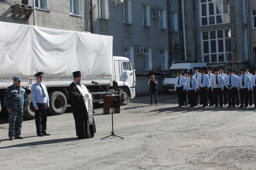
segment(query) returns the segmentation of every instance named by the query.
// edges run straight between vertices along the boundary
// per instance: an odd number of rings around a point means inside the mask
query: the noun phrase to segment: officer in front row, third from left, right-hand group
[[[200,101],[202,101],[202,108],[205,108],[208,106],[208,100],[207,100],[207,91],[210,88],[210,80],[209,77],[204,74],[205,70],[202,68],[200,69],[201,75],[199,76],[197,87],[200,94]]]

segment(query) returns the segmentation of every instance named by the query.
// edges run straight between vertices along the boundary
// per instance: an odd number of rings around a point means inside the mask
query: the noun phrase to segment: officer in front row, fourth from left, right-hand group
[[[220,107],[223,106],[223,89],[224,89],[224,79],[222,76],[219,75],[219,69],[216,68],[214,69],[215,76],[212,77],[212,91],[214,94],[214,102],[215,106],[214,107]],[[218,97],[219,97],[219,102],[218,102]]]

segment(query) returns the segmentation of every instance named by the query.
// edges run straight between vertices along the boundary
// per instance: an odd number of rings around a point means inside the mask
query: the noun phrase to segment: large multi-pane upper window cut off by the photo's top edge
[[[201,0],[201,26],[229,23],[229,1]]]

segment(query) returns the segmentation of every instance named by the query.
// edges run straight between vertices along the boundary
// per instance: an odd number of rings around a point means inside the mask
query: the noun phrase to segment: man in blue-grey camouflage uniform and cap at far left
[[[20,136],[21,123],[23,121],[23,110],[28,107],[26,91],[20,86],[20,77],[13,77],[13,84],[6,88],[4,96],[4,107],[9,112],[9,138],[10,140],[23,139]]]

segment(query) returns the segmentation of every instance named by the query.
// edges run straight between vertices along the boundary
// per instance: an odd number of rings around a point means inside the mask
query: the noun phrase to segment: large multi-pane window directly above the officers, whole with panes
[[[230,29],[202,32],[204,63],[231,61]]]

